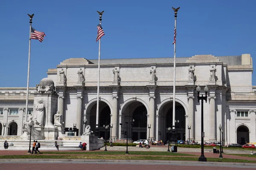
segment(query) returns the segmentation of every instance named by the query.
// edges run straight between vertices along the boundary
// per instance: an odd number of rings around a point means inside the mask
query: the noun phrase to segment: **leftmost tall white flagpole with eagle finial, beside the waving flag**
[[[29,15],[29,14],[28,14]],[[32,26],[32,18],[34,14],[29,15],[29,63],[28,63],[28,78],[27,78],[27,93],[26,93],[26,110],[25,110],[25,122],[27,121],[28,114],[28,103],[29,103],[29,70],[30,70],[30,49],[31,49],[31,26]]]

